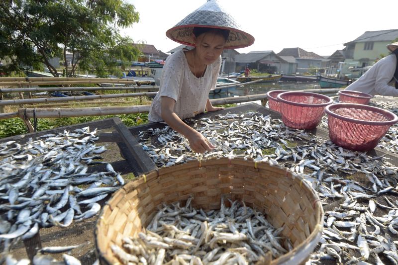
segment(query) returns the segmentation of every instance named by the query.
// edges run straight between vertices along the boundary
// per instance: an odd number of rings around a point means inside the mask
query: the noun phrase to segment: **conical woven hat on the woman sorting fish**
[[[241,30],[232,16],[225,12],[216,0],[207,0],[205,4],[169,29],[166,36],[176,42],[195,46],[194,27],[228,29],[230,32],[224,45],[225,49],[243,48],[254,43],[254,37]]]

